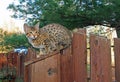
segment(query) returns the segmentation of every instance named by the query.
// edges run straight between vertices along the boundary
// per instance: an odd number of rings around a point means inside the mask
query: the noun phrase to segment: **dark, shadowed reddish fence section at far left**
[[[18,53],[0,53],[0,82],[15,82],[17,76]]]

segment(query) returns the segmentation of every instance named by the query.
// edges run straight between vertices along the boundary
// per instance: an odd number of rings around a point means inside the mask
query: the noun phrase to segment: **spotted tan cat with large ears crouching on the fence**
[[[24,31],[29,43],[40,49],[40,55],[61,50],[71,45],[71,32],[60,24],[48,24],[39,28],[24,24]]]

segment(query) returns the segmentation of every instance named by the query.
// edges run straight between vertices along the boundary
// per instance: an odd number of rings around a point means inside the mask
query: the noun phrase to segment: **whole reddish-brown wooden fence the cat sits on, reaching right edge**
[[[17,55],[17,77],[24,82],[120,82],[120,39],[114,39],[114,66],[110,44],[95,35],[90,35],[87,44],[86,31],[79,30],[73,34],[72,46],[63,51],[37,58],[29,49],[27,55]]]

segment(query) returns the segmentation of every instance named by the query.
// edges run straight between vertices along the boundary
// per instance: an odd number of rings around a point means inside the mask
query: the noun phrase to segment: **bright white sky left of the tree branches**
[[[19,27],[20,31],[22,31],[23,20],[11,18],[12,11],[7,10],[7,6],[13,1],[16,1],[16,0],[0,1],[0,28],[4,28],[4,29],[7,28],[8,30],[11,30],[11,28],[15,29],[15,27],[12,27],[10,25],[8,27],[5,27],[5,24],[9,24],[12,22],[12,23],[15,23],[16,27]]]

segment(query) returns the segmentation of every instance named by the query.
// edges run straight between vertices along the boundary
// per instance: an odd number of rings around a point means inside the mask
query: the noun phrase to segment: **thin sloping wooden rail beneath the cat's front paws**
[[[50,54],[41,55],[39,58],[35,58],[35,59],[32,59],[32,60],[26,61],[26,62],[24,63],[24,66],[28,66],[28,65],[33,64],[33,63],[36,63],[36,62],[38,62],[38,61],[42,61],[42,60],[44,60],[44,59],[46,59],[46,58],[49,58],[49,57],[51,57],[51,56],[54,56],[54,55],[56,55],[56,54],[58,54],[58,53],[60,53],[60,52],[59,52],[59,51],[55,51],[55,52],[50,53]]]

